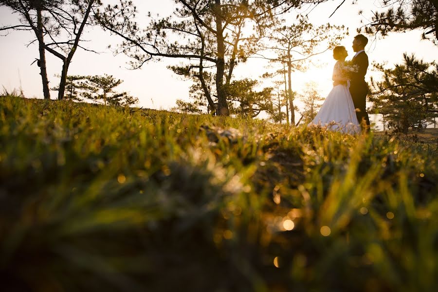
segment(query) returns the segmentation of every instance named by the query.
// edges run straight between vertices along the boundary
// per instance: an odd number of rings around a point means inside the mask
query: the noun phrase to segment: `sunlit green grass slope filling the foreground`
[[[414,142],[1,97],[2,291],[435,291]]]

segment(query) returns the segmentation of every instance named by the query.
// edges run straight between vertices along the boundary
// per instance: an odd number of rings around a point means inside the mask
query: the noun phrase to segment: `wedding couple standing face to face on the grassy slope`
[[[345,61],[348,55],[345,47],[334,48],[333,58],[337,62],[333,68],[333,89],[308,126],[322,125],[346,133],[359,133],[361,128],[369,131],[369,117],[365,108],[368,93],[365,82],[367,43],[368,38],[364,35],[354,37],[352,47],[356,55],[349,62]]]

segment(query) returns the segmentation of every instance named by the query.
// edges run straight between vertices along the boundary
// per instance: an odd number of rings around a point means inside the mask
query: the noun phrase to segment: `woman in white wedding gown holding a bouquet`
[[[360,133],[353,100],[348,90],[348,78],[343,72],[343,65],[348,53],[345,47],[338,46],[333,50],[333,58],[337,60],[333,68],[332,79],[338,85],[334,86],[324,101],[318,114],[308,125],[327,126],[331,130],[344,133]],[[341,84],[339,84],[341,83]]]

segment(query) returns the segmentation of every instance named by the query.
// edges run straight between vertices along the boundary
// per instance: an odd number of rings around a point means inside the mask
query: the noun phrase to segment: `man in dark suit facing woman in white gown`
[[[353,56],[351,62],[359,67],[358,73],[352,73],[350,80],[350,94],[356,108],[356,116],[361,128],[367,132],[370,130],[369,117],[366,112],[366,95],[368,94],[368,84],[365,82],[365,74],[368,69],[368,56],[365,53],[365,46],[368,38],[364,35],[357,35],[353,40]]]

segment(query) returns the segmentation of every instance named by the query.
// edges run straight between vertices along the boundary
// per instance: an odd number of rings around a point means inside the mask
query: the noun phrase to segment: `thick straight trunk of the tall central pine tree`
[[[223,74],[225,71],[225,44],[222,31],[222,12],[220,0],[215,0],[215,17],[216,17],[216,40],[218,42],[218,63],[216,70],[216,91],[218,91],[218,114],[229,116],[227,97],[223,84]]]

